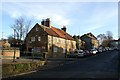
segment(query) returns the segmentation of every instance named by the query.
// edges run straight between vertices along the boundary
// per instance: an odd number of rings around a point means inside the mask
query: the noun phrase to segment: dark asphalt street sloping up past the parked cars
[[[41,80],[118,80],[118,51],[115,50],[65,63],[54,68],[39,69],[37,72],[3,80],[38,80],[40,78]]]

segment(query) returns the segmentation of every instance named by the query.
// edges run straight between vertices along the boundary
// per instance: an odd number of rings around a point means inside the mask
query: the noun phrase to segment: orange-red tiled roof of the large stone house
[[[42,27],[49,35],[52,35],[55,37],[61,37],[61,38],[68,39],[68,40],[74,40],[71,35],[64,32],[63,30],[60,30],[53,26],[51,26],[51,28],[43,26],[43,25],[39,25],[39,26]]]

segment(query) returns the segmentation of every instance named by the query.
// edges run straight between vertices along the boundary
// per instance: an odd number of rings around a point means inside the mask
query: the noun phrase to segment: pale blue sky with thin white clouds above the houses
[[[42,19],[50,18],[51,25],[57,28],[67,27],[70,35],[93,33],[95,36],[106,31],[118,38],[118,2],[104,1],[2,1],[0,6],[0,38],[13,34],[11,26],[15,19],[24,17],[32,20],[31,28],[41,24]]]

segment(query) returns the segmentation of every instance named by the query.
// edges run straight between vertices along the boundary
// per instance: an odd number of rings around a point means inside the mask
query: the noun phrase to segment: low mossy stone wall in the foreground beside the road
[[[5,78],[15,74],[35,70],[45,64],[45,61],[2,64],[2,77]]]

